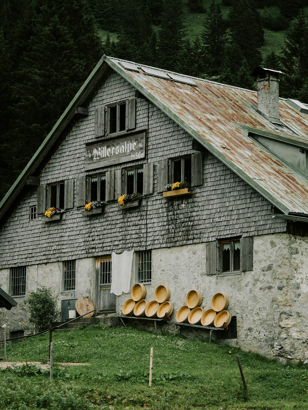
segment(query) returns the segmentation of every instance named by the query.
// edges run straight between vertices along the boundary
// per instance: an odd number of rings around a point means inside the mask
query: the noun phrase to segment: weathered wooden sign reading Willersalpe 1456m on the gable
[[[86,145],[85,169],[101,168],[145,157],[145,131]]]

